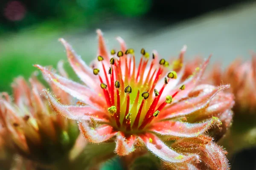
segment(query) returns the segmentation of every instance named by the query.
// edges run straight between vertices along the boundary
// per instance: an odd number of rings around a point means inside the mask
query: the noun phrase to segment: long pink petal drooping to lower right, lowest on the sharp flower
[[[160,159],[163,159],[163,161],[179,163],[199,159],[197,155],[180,155],[179,153],[172,150],[172,148],[164,144],[157,136],[152,133],[145,133],[143,135],[140,135],[139,138],[142,140],[148,150],[150,150]]]

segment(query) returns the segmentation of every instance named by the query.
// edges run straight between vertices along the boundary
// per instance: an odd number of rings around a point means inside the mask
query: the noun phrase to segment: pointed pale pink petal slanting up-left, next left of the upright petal
[[[63,38],[59,39],[59,41],[61,41],[66,48],[67,58],[78,77],[90,88],[93,88],[95,82],[99,82],[97,81],[98,79],[95,79],[93,70],[74,52],[71,45],[69,45]]]

